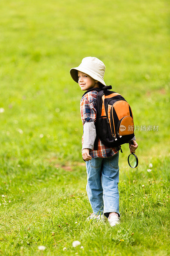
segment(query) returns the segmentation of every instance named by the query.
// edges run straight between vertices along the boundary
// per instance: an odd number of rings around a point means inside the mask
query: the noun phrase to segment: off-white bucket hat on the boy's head
[[[91,76],[94,80],[99,81],[101,84],[106,85],[103,80],[105,69],[105,64],[98,58],[85,57],[78,67],[70,69],[70,75],[73,80],[78,83],[78,71],[81,71]]]

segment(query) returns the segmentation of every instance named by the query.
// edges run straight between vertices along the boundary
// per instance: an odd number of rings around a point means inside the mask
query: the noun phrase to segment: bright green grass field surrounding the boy
[[[168,13],[161,0],[0,1],[0,255],[170,254]],[[139,126],[138,167],[128,144],[120,153],[114,228],[85,221],[83,92],[69,70],[86,56],[105,63]]]

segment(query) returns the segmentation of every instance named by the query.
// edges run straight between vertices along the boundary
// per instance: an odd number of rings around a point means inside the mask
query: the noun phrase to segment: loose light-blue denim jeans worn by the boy
[[[87,171],[86,191],[93,213],[108,217],[109,212],[119,212],[119,152],[110,157],[92,157],[85,161]]]

